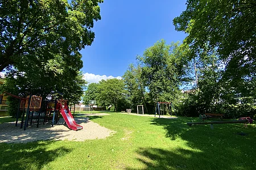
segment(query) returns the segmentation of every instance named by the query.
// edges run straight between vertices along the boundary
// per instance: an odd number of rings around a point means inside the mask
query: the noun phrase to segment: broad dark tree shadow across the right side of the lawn
[[[188,121],[191,119],[151,120],[152,125],[166,130],[166,137],[171,141],[166,149],[154,146],[136,151],[137,159],[146,166],[144,169],[256,169],[254,126],[216,124],[212,130],[209,125],[189,127]],[[249,135],[237,135],[237,131]]]

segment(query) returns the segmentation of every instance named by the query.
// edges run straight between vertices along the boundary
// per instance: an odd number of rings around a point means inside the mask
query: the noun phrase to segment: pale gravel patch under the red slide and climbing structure
[[[20,129],[20,122],[18,126],[15,126],[15,122],[3,123],[0,124],[0,143],[26,143],[45,140],[85,141],[103,139],[115,133],[113,130],[90,121],[87,117],[77,117],[75,120],[84,129],[77,131],[68,129],[63,118],[53,127],[51,123],[48,123],[40,124],[39,128],[36,128],[36,123],[34,123],[28,126],[27,130]]]

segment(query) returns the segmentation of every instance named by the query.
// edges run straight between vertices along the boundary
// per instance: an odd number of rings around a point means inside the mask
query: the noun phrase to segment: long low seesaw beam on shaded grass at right
[[[188,126],[192,125],[206,125],[210,124],[210,128],[213,129],[213,124],[252,124],[253,120],[250,117],[241,117],[234,121],[212,121],[212,122],[187,122]]]

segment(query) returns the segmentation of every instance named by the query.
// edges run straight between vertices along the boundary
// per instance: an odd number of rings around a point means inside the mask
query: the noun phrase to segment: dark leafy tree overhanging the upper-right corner
[[[187,9],[174,19],[177,31],[188,33],[193,56],[217,50],[227,79],[256,73],[256,3],[254,0],[188,0]]]

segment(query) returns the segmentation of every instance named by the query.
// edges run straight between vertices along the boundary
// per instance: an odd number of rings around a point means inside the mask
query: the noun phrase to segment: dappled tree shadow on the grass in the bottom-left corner
[[[71,152],[65,146],[51,149],[53,141],[26,144],[0,143],[0,169],[41,169],[44,165]]]

